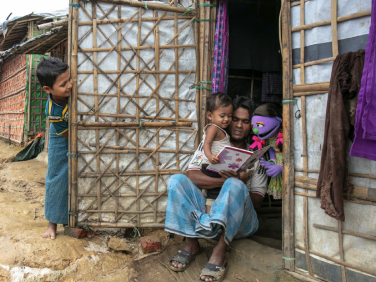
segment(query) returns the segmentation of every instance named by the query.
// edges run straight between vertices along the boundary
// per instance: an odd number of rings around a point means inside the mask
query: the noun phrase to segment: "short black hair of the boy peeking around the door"
[[[53,88],[56,78],[68,69],[68,65],[59,58],[43,58],[37,68],[39,83],[43,86]]]

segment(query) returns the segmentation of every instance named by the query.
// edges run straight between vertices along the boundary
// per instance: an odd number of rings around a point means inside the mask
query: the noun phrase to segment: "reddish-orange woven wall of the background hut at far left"
[[[25,117],[26,55],[0,66],[0,137],[21,144]]]

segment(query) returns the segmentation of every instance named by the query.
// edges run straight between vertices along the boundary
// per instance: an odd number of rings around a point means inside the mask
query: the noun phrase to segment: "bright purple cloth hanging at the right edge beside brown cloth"
[[[356,108],[355,138],[350,156],[376,161],[376,0],[372,0],[371,27]]]

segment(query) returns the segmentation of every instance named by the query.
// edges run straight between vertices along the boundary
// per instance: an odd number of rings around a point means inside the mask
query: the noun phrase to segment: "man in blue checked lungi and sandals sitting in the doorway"
[[[251,131],[255,105],[246,97],[233,101],[232,122],[228,127],[231,144],[248,149],[246,139]],[[195,156],[204,154],[199,146]],[[184,271],[200,252],[198,238],[215,238],[218,244],[203,269],[201,281],[222,281],[227,271],[226,248],[233,239],[252,235],[258,228],[254,207],[259,207],[267,190],[268,177],[259,162],[254,173],[222,171],[221,178],[212,178],[192,161],[187,175],[177,174],[169,179],[165,230],[186,237],[184,250],[171,258],[170,269]],[[247,184],[247,186],[245,185]],[[221,187],[219,195],[206,213],[206,199],[200,189]]]

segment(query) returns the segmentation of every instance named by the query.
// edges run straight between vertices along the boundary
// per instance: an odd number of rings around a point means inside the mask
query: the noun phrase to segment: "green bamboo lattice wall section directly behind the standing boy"
[[[29,39],[45,33],[39,31],[35,22],[29,24]],[[46,130],[45,106],[48,99],[47,93],[42,90],[37,78],[37,67],[42,57],[48,55],[27,55],[28,80],[26,84],[25,102],[25,135],[35,136]],[[25,139],[27,142],[27,139]]]

